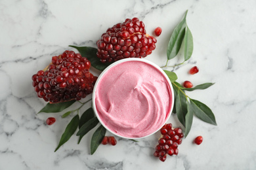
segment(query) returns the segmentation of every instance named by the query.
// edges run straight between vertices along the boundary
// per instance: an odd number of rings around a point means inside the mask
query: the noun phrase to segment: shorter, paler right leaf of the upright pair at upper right
[[[193,36],[188,28],[188,25],[186,25],[186,33],[184,37],[184,59],[185,61],[190,59],[193,53]]]

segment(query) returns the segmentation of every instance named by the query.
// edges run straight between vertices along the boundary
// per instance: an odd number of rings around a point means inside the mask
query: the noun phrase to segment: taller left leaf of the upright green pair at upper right
[[[175,27],[173,34],[171,35],[171,39],[167,46],[167,59],[172,59],[177,56],[179,50],[181,49],[181,44],[184,39],[185,31],[186,31],[186,14],[188,10],[186,10],[185,16],[183,20]]]

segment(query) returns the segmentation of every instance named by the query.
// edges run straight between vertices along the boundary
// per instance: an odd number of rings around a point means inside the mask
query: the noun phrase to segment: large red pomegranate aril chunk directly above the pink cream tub
[[[103,63],[123,58],[144,58],[156,48],[155,43],[156,39],[146,34],[143,22],[138,18],[127,18],[102,34],[96,42],[97,56]]]

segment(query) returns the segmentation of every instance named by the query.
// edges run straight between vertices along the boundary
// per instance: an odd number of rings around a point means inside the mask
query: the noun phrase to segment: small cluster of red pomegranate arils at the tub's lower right
[[[154,156],[158,157],[161,161],[166,160],[167,154],[170,156],[179,153],[178,146],[182,143],[184,136],[181,128],[173,128],[171,124],[165,124],[160,129],[161,138],[158,140]]]

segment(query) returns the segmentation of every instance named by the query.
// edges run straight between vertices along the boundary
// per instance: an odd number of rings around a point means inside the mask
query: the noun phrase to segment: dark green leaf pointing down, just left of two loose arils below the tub
[[[95,133],[93,133],[93,137],[91,138],[91,154],[94,154],[98,145],[100,145],[102,139],[106,134],[106,129],[104,126],[100,125],[98,129],[96,129]]]

